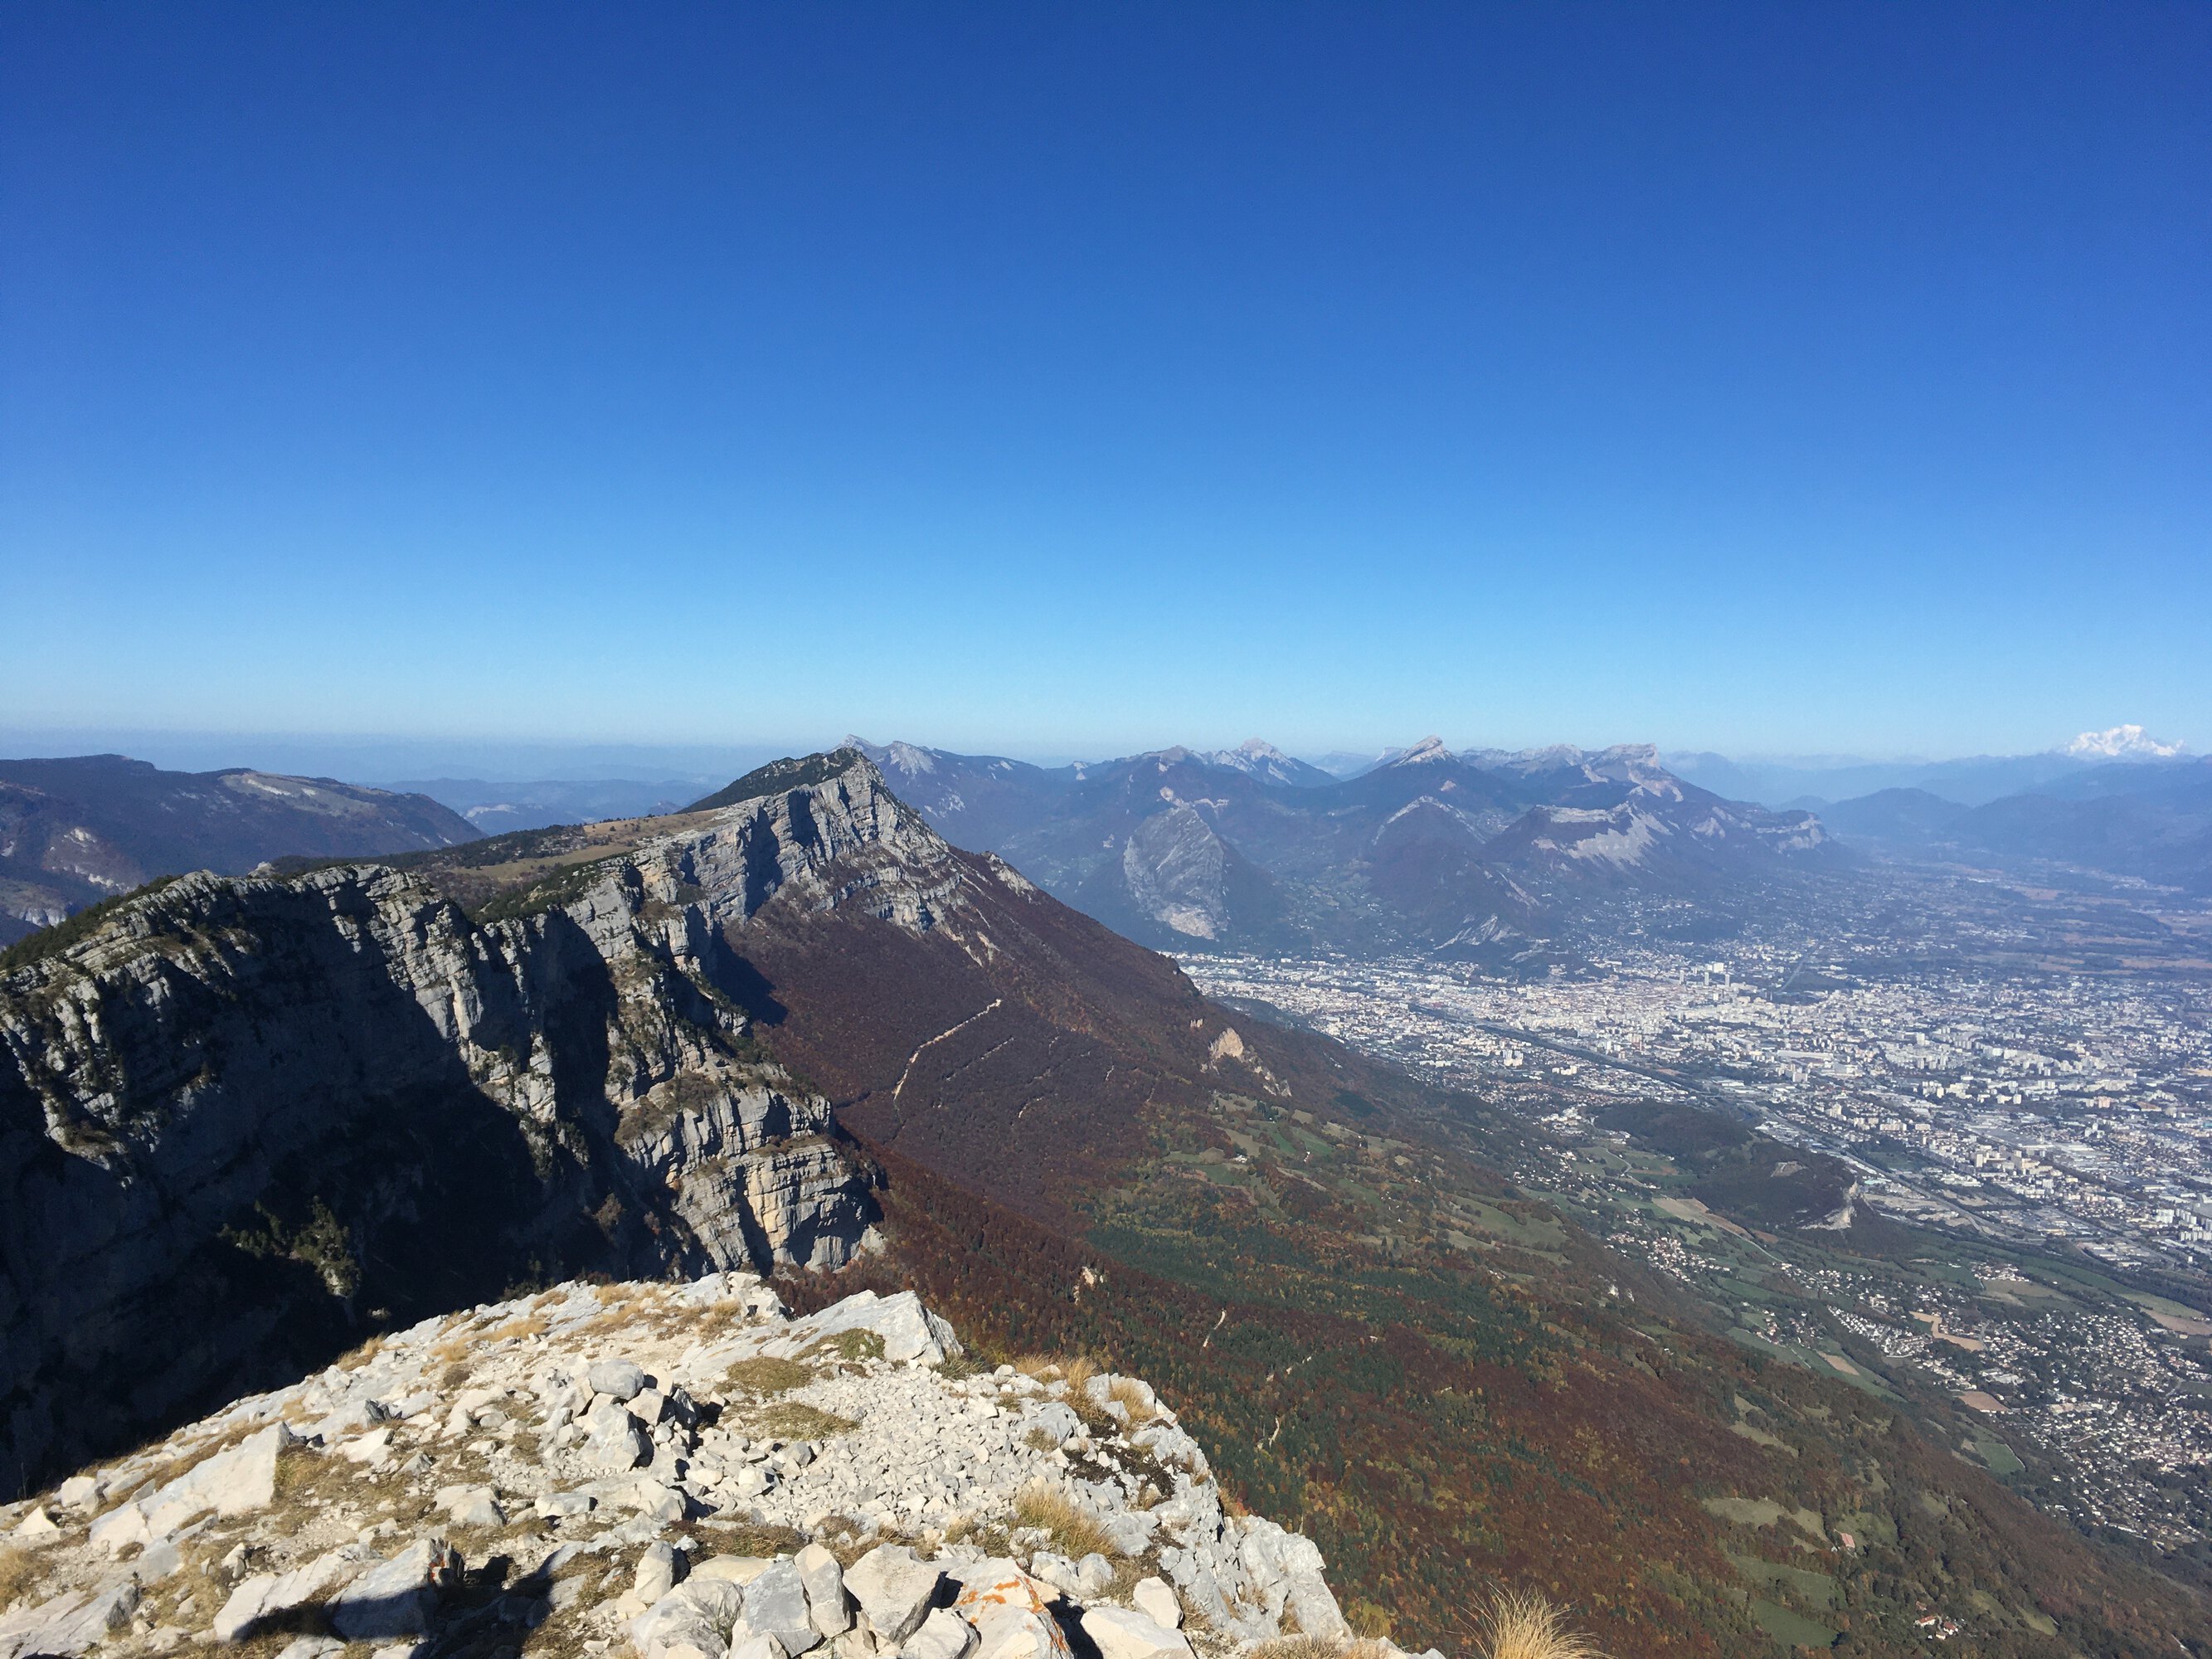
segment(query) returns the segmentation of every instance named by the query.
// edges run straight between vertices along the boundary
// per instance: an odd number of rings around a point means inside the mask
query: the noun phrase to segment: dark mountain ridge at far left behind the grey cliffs
[[[0,761],[0,945],[186,869],[239,876],[288,854],[451,847],[480,832],[422,794],[122,754]]]

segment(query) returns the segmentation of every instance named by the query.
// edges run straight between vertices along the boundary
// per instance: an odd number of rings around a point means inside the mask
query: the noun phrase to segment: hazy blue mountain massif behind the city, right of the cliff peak
[[[958,845],[1146,945],[1506,962],[1595,891],[1699,896],[1838,858],[1807,812],[1723,801],[1646,745],[1447,750],[1349,776],[1250,741],[1068,768],[847,739]]]

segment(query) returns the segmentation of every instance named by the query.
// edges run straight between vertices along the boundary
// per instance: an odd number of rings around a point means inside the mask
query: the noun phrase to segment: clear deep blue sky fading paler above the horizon
[[[2205,86],[2201,4],[11,4],[0,728],[2212,748]]]

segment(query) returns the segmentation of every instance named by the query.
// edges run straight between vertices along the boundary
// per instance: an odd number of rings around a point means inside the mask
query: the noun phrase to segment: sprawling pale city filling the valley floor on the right
[[[1181,962],[1208,995],[1506,1113],[1524,1188],[1697,1290],[1736,1340],[1885,1396],[1940,1389],[1960,1455],[2201,1571],[2203,938],[2203,907],[1898,869],[1719,940],[1670,940],[1648,902],[1522,978]],[[1705,1113],[1741,1141],[1725,1159],[1683,1135]]]

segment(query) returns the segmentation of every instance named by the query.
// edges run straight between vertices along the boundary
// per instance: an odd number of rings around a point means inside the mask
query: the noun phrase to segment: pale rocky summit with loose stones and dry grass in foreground
[[[1192,1659],[1349,1641],[1150,1385],[984,1369],[911,1292],[564,1283],[0,1509],[0,1659]],[[1389,1644],[1369,1644],[1389,1659]]]

